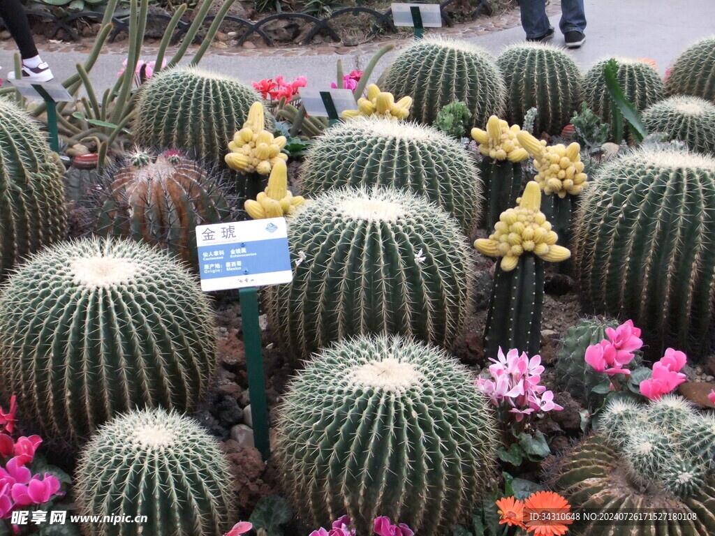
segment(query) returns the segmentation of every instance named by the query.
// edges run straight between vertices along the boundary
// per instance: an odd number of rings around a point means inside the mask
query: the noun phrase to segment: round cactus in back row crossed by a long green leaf
[[[593,111],[602,123],[611,124],[613,121],[613,99],[608,94],[606,77],[603,76],[603,66],[611,58],[601,59],[588,69],[583,77],[583,96],[588,109]],[[642,59],[616,57],[618,62],[618,84],[623,89],[628,102],[636,110],[644,109],[664,98],[666,88],[660,74],[654,66],[647,64]],[[628,123],[623,121],[624,132],[628,132]]]

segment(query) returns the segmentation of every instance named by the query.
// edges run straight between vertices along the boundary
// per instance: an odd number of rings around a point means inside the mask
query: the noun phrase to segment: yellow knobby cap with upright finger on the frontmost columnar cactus
[[[474,242],[478,252],[490,257],[503,257],[501,269],[511,272],[522,254],[533,252],[545,261],[561,262],[571,257],[566,247],[557,246],[558,235],[541,208],[541,189],[536,182],[526,184],[519,206],[501,213],[489,238]]]

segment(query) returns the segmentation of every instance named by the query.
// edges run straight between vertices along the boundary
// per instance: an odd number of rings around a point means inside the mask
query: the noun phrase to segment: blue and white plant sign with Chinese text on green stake
[[[285,218],[196,227],[204,292],[290,283]]]

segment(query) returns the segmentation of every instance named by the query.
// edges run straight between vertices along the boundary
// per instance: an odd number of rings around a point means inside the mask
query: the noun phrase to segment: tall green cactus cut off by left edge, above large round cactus
[[[0,99],[0,279],[64,238],[62,172],[31,117]]]

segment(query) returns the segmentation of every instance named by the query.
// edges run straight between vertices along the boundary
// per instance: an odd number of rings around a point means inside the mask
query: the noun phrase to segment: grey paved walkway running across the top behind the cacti
[[[553,26],[558,28],[558,0],[549,6]],[[588,40],[584,46],[572,54],[583,69],[603,56],[634,56],[654,59],[661,73],[674,57],[688,44],[701,37],[715,34],[715,1],[686,0],[675,5],[667,0],[586,0]],[[501,16],[498,22],[475,21],[470,26],[443,29],[442,32],[474,41],[494,54],[504,46],[523,40],[523,31],[518,26],[518,16],[512,13]],[[495,26],[498,24],[499,26]],[[504,27],[513,26],[509,29]],[[479,29],[481,28],[481,29]],[[480,33],[482,35],[480,35]],[[563,43],[556,34],[554,44]],[[395,41],[397,49],[410,43],[410,39]],[[335,63],[342,59],[343,70],[362,69],[380,43],[364,44],[356,47],[317,46],[289,49],[211,49],[201,65],[234,74],[245,81],[258,80],[282,74],[287,79],[305,75],[314,87],[325,87],[335,79]],[[74,73],[75,64],[84,61],[86,51],[73,50],[70,46],[60,46],[58,51],[44,51],[42,56],[50,62],[56,75],[62,79]],[[376,73],[396,51],[385,56]],[[121,68],[126,51],[116,47],[102,54],[102,58],[91,73],[96,88],[106,88],[114,83]],[[190,57],[190,55],[189,55]],[[151,59],[149,48],[144,58]],[[6,76],[11,69],[12,51],[0,49],[0,74]]]

